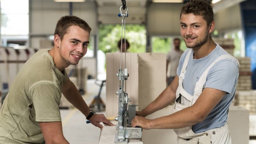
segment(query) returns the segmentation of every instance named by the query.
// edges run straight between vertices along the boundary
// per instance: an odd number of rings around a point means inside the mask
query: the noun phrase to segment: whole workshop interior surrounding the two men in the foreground
[[[115,126],[93,126],[62,96],[59,110],[66,140],[72,144],[178,144],[173,129],[132,127],[132,120],[136,111],[145,109],[167,88],[174,69],[168,53],[175,49],[176,39],[180,51],[189,49],[180,32],[180,10],[189,1],[0,0],[0,109],[27,60],[54,46],[59,18],[77,16],[92,30],[87,53],[77,65],[66,67],[66,73],[88,107]],[[256,144],[256,1],[204,1],[214,13],[212,40],[239,62],[228,110],[232,144]],[[146,118],[170,115],[172,105]]]

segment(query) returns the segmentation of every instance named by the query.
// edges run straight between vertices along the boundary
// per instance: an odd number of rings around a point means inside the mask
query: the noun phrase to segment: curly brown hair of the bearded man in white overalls
[[[180,11],[180,18],[182,14],[191,14],[195,16],[202,16],[207,22],[207,26],[210,26],[213,22],[213,11],[209,3],[203,0],[190,0],[190,2],[184,4]]]

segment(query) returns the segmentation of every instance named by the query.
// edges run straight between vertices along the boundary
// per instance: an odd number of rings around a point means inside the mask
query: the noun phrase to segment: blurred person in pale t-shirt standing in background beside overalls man
[[[176,71],[179,65],[179,60],[180,57],[183,53],[182,50],[180,50],[180,39],[179,38],[174,38],[173,39],[173,45],[174,48],[167,53],[167,60],[166,60],[166,82],[167,82],[167,86],[171,84],[171,82],[173,81],[173,79],[176,76]],[[169,67],[169,77],[167,74],[168,71],[168,66],[170,64]]]

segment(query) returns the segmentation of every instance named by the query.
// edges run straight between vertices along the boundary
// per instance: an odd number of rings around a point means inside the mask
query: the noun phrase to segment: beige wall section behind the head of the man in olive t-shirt
[[[69,3],[53,0],[30,0],[30,47],[39,48],[40,40],[53,35],[61,16],[69,15]],[[91,36],[96,34],[96,5],[93,1],[73,3],[73,15],[84,19],[92,28]]]

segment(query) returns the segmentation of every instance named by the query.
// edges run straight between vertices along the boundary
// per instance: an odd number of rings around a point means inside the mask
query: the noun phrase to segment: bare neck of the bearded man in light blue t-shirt
[[[201,47],[193,48],[194,59],[201,59],[215,49],[216,43],[209,37],[209,40]]]

